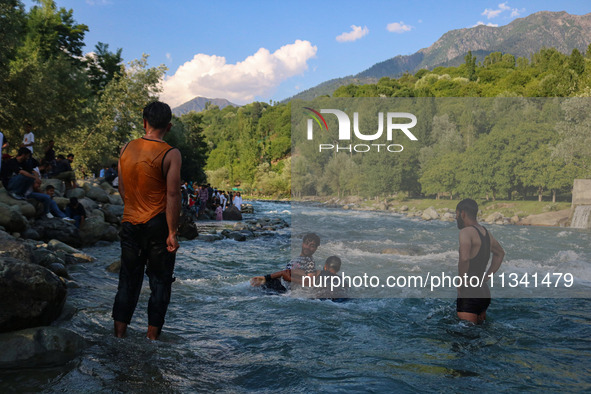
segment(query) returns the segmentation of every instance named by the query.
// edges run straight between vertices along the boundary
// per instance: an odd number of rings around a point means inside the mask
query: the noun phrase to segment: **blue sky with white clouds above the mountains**
[[[361,72],[478,22],[506,25],[537,11],[591,12],[570,1],[153,1],[56,0],[125,61],[150,55],[168,67],[162,98],[238,104],[282,100],[326,80]],[[32,1],[25,1],[27,6]],[[182,67],[181,67],[182,66]]]

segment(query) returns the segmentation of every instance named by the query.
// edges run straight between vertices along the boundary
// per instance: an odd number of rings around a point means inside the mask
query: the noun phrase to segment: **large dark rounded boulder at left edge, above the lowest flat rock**
[[[49,325],[66,293],[66,284],[47,268],[0,257],[0,332]]]

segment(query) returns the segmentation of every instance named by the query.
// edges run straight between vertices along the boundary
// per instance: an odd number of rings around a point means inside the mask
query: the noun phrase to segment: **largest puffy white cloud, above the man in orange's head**
[[[281,82],[308,69],[308,60],[317,47],[296,40],[273,53],[260,48],[236,64],[223,56],[196,54],[181,65],[174,75],[164,78],[161,100],[176,107],[196,96],[225,98],[237,104],[268,95]]]

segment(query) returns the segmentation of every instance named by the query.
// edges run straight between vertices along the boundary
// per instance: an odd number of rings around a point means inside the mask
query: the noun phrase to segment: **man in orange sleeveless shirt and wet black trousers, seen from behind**
[[[125,335],[137,305],[144,268],[150,281],[149,339],[158,339],[170,302],[181,209],[181,154],[162,140],[172,124],[170,107],[153,102],[144,108],[146,134],[121,149],[119,192],[121,270],[113,305],[115,336]]]

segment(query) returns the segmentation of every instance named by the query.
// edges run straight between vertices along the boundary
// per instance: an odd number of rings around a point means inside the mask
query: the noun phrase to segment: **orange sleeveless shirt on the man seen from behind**
[[[146,223],[166,210],[166,178],[162,165],[173,149],[163,141],[138,138],[127,144],[119,159],[125,203],[122,222]]]

